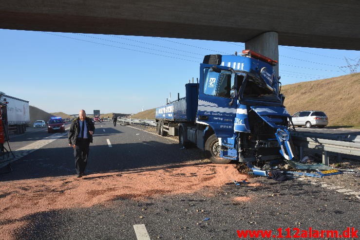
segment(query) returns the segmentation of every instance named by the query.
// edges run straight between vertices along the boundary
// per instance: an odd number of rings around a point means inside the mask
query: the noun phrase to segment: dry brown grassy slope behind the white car
[[[282,92],[290,114],[319,110],[329,126],[360,126],[360,73],[285,85]]]

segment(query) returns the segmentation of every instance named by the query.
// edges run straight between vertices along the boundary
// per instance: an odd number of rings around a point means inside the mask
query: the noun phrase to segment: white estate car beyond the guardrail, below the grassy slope
[[[329,124],[328,118],[323,111],[299,111],[292,115],[292,122],[294,126],[306,126],[306,128],[311,128],[317,126],[323,128]]]

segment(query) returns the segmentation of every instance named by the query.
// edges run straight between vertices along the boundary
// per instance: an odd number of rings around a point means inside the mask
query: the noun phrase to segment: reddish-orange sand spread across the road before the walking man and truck
[[[97,173],[76,178],[47,177],[3,182],[0,185],[0,232],[12,240],[26,216],[63,208],[90,207],[117,199],[145,201],[165,195],[202,192],[211,195],[221,187],[246,179],[234,165],[183,163]],[[249,184],[257,186],[257,184]],[[250,201],[250,198],[234,199]]]

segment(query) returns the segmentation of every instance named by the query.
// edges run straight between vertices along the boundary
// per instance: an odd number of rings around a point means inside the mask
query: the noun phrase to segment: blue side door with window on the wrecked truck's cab
[[[231,102],[230,90],[235,89],[235,74],[204,69],[199,89],[197,123],[209,125],[217,137],[232,137],[237,101]]]

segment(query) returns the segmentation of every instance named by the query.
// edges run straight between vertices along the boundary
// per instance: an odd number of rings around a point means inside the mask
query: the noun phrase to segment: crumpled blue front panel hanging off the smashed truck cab
[[[280,145],[280,153],[286,160],[294,158],[294,154],[290,145],[290,133],[287,126],[282,125],[284,122],[283,117],[290,117],[290,114],[284,107],[273,106],[251,106],[268,125],[277,129],[275,132],[276,139]]]

